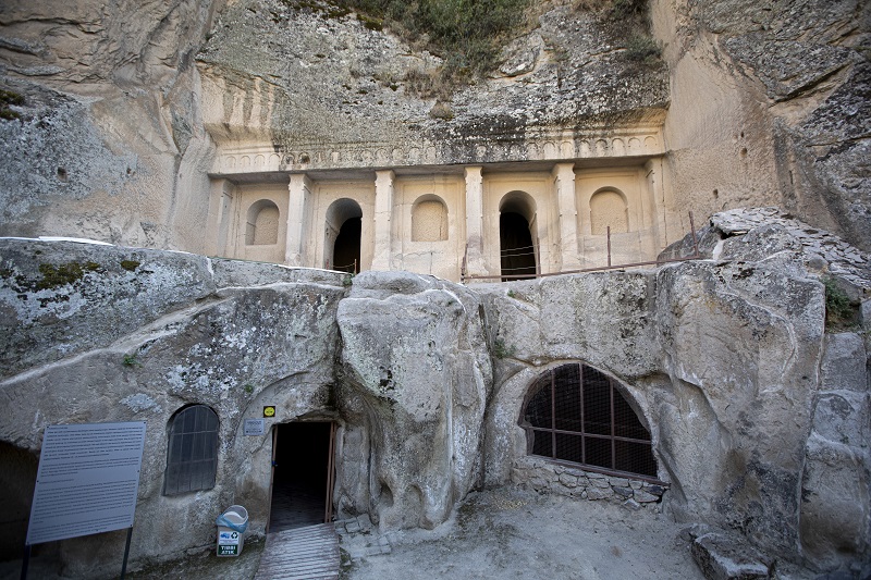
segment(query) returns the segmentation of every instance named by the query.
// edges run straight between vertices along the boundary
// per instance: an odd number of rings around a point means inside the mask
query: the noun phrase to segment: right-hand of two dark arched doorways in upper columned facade
[[[502,281],[528,280],[538,273],[538,245],[532,230],[536,202],[524,192],[511,192],[499,206],[499,246]]]

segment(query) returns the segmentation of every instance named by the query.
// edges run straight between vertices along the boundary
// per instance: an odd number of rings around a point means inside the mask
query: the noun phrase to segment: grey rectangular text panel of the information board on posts
[[[145,422],[46,428],[27,545],[133,527]]]

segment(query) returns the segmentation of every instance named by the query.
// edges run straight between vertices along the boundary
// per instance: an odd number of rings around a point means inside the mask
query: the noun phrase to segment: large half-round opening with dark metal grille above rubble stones
[[[531,455],[657,477],[650,433],[613,379],[586,365],[564,365],[539,378],[529,393],[520,424]]]

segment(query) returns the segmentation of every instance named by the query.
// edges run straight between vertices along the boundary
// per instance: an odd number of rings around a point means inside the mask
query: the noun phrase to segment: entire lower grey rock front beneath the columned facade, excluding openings
[[[464,287],[4,239],[7,528],[23,540],[46,425],[144,420],[134,559],[209,545],[233,503],[262,533],[269,428],[321,420],[339,427],[338,514],[382,530],[438,526],[482,485],[578,497],[584,479],[615,490],[588,499],[635,495],[776,558],[859,573],[871,555],[868,257],[772,209],[715,215],[701,247],[709,259],[655,270]],[[528,455],[530,386],[572,361],[619,382],[664,492]],[[188,404],[219,416],[216,485],[164,496],[167,424]],[[279,409],[266,436],[245,436],[265,405]],[[99,575],[122,535],[64,541],[68,571]]]

